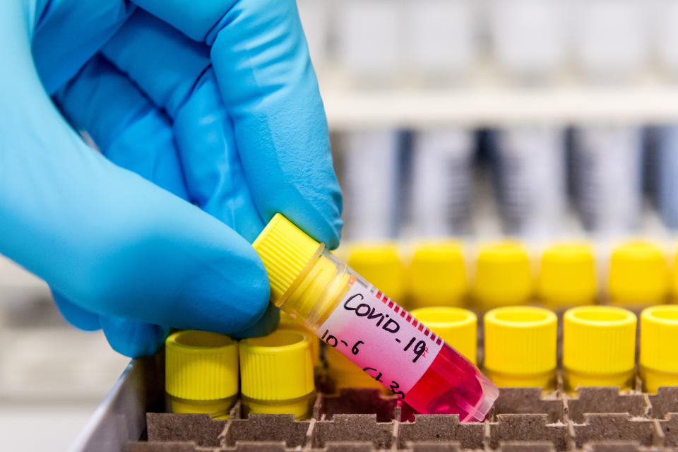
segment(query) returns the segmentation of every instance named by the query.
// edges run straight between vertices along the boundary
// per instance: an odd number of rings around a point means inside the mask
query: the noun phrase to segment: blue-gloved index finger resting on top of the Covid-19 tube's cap
[[[282,212],[314,238],[337,246],[340,189],[295,0],[136,3],[210,46],[261,217]]]

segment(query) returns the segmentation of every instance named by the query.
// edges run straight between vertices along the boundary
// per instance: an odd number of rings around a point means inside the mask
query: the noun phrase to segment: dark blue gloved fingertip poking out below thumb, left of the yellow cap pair
[[[100,322],[113,350],[131,358],[153,355],[169,333],[169,328],[121,317],[101,316]]]

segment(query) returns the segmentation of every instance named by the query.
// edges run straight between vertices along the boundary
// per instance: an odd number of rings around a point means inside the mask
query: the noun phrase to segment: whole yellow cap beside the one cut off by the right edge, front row
[[[636,314],[612,306],[582,306],[563,317],[563,366],[588,374],[635,367]]]

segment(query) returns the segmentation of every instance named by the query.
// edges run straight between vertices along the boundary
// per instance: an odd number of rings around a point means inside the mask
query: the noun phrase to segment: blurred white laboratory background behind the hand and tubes
[[[347,241],[674,237],[678,0],[297,5]],[[67,448],[128,361],[1,256],[0,340],[8,450]]]

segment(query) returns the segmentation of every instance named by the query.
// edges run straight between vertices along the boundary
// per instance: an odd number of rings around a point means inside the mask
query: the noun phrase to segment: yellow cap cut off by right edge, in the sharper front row
[[[663,305],[641,313],[641,374],[650,393],[678,386],[678,306]]]

